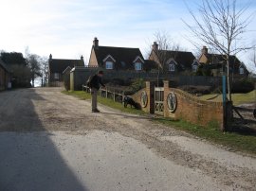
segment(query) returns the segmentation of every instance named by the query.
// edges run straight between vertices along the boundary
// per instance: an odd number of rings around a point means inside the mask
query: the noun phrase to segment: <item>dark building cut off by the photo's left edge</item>
[[[0,59],[0,91],[9,88],[10,70],[4,61]]]

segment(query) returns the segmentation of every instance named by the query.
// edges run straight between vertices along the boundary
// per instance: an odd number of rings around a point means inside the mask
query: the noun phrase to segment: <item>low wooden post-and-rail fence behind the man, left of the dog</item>
[[[82,85],[82,91],[86,93],[90,93],[91,89],[88,86]],[[116,90],[110,90],[108,88],[101,88],[99,91],[99,96],[111,98],[115,102],[122,103],[124,98],[124,92],[119,92]]]

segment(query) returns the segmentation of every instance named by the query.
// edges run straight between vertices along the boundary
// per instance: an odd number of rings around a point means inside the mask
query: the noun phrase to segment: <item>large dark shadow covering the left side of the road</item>
[[[41,123],[34,89],[0,95],[0,190],[87,190]]]

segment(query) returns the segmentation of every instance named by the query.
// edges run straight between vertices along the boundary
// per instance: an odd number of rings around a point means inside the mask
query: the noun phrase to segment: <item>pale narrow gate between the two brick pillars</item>
[[[163,115],[164,113],[164,88],[155,87],[155,113]]]

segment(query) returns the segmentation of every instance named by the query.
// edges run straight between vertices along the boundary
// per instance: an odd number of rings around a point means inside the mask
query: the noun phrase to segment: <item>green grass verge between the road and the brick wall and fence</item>
[[[84,93],[82,91],[63,91],[63,93],[69,96],[77,96],[81,99],[91,98],[90,94]],[[146,114],[139,110],[123,108],[122,104],[101,96],[99,96],[99,102],[111,108],[118,109],[119,111],[124,113],[135,113],[141,115]],[[214,121],[210,122],[208,127],[200,127],[198,125],[194,125],[183,120],[174,121],[170,118],[164,117],[157,117],[153,121],[172,127],[175,130],[183,130],[189,132],[192,135],[204,138],[212,143],[220,144],[228,148],[256,155],[256,136],[242,135],[237,132],[222,132],[221,130],[218,129],[217,123]]]

